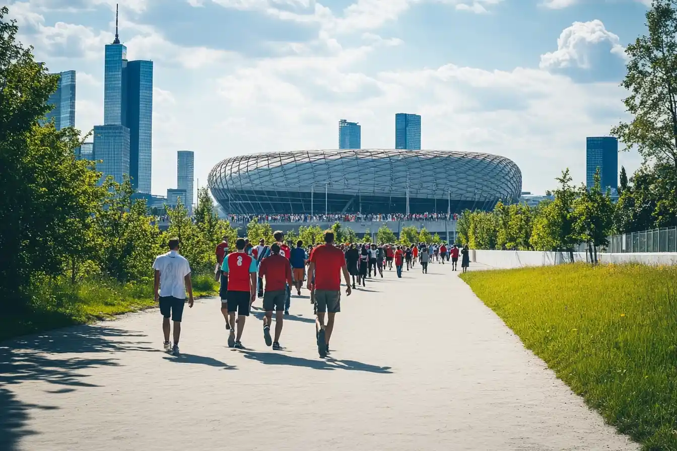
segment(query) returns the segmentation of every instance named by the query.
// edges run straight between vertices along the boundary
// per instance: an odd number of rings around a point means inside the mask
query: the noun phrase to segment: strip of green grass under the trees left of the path
[[[217,293],[219,283],[213,276],[193,279],[195,298]],[[28,306],[20,313],[0,317],[0,341],[28,333],[58,327],[92,323],[117,314],[157,306],[153,300],[153,281],[118,283],[91,279],[77,285],[65,281],[51,287],[34,287]]]

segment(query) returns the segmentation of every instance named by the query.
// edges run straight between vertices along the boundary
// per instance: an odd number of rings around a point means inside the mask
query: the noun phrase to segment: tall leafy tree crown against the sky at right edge
[[[621,86],[634,118],[611,130],[626,145],[636,147],[645,162],[668,164],[677,172],[677,9],[673,0],[653,0],[647,11],[649,36],[628,45],[630,58]]]

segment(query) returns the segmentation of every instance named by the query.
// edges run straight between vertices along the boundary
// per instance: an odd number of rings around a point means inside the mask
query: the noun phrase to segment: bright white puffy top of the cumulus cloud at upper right
[[[613,34],[601,20],[590,22],[573,22],[565,28],[557,39],[557,50],[541,56],[540,67],[552,68],[589,68],[588,46],[600,43],[611,45],[611,53],[621,58],[626,57],[625,47],[620,43],[616,34]]]

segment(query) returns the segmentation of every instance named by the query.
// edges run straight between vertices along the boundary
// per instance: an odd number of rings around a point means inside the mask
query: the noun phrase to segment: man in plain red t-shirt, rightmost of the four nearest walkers
[[[329,352],[329,339],[334,330],[334,316],[341,311],[341,273],[345,280],[345,295],[349,296],[350,276],[345,263],[345,256],[334,246],[334,232],[324,233],[324,243],[313,249],[308,266],[308,289],[311,289],[311,275],[315,275],[315,336],[318,339],[320,357]],[[327,325],[324,326],[324,314],[327,314]]]

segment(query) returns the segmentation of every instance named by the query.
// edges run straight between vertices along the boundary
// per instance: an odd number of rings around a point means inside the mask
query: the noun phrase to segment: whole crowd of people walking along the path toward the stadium
[[[468,246],[453,243],[418,243],[414,245],[376,243],[334,243],[334,233],[324,233],[324,243],[304,247],[303,241],[287,243],[284,233],[274,233],[275,242],[267,245],[263,239],[258,245],[238,238],[234,252],[230,252],[227,237],[217,245],[215,278],[220,281],[221,314],[225,321],[227,343],[230,348],[244,349],[242,333],[257,297],[263,307],[263,339],[273,350],[283,350],[280,336],[284,316],[289,314],[292,288],[301,295],[303,285],[310,292],[315,312],[315,339],[321,357],[330,353],[329,342],[334,330],[336,313],[341,311],[341,278],[347,296],[357,287],[366,287],[367,280],[383,278],[384,270],[397,272],[414,270],[420,264],[421,272],[428,273],[431,263],[451,264],[458,270],[458,260],[465,272],[470,265]],[[160,304],[164,347],[179,354],[181,320],[188,292],[188,306],[193,306],[190,264],[179,254],[179,240],[169,241],[169,252],[156,258],[155,298]],[[275,331],[271,333],[273,314]],[[173,341],[170,340],[171,321],[174,323]]]

